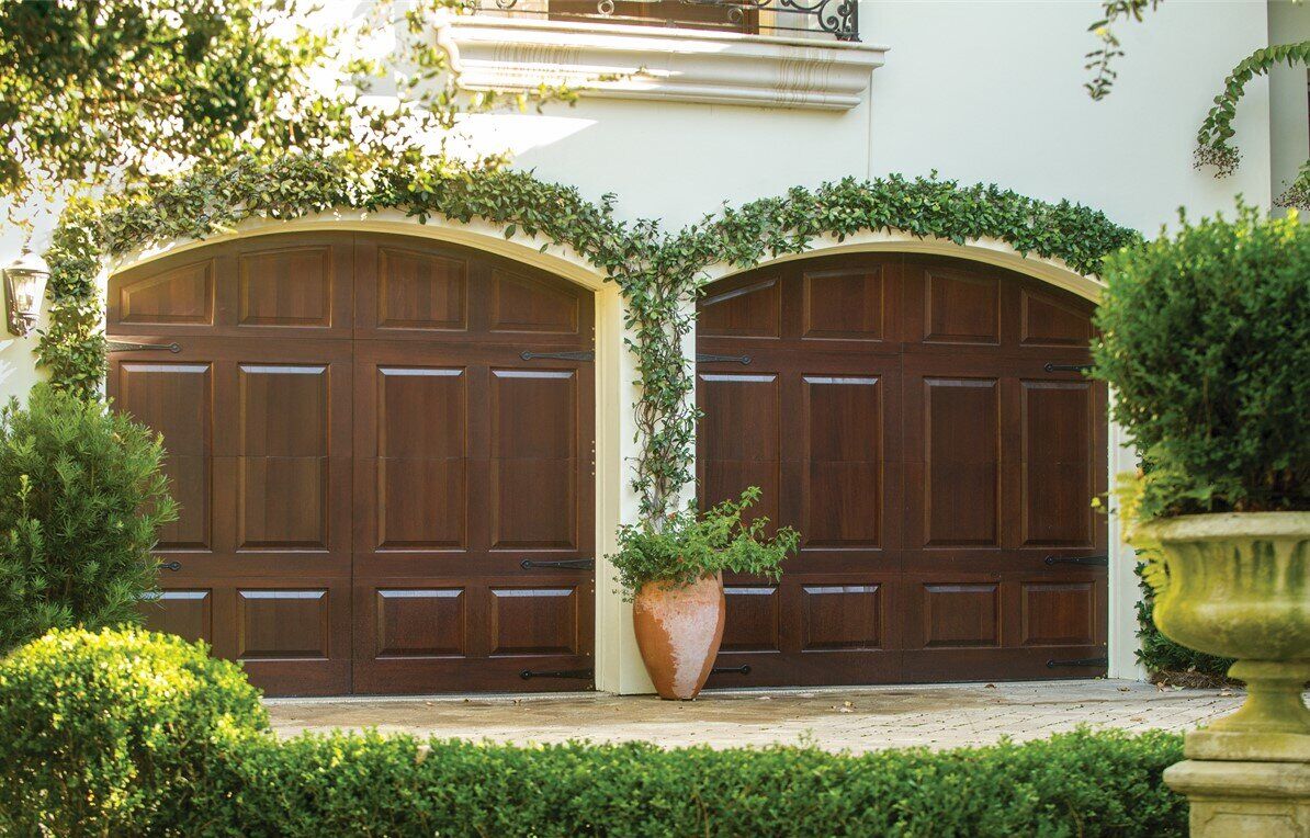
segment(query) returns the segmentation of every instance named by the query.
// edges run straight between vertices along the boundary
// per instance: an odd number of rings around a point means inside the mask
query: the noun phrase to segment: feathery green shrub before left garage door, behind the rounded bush
[[[0,412],[0,652],[51,628],[140,621],[177,519],[147,428],[37,385]]]

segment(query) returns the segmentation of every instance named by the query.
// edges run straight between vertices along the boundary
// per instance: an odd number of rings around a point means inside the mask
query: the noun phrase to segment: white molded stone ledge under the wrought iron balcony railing
[[[478,90],[566,85],[587,96],[848,110],[887,47],[817,38],[461,16],[461,81]]]

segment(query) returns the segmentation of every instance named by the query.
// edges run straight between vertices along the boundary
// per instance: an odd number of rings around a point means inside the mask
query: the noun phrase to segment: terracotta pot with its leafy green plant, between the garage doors
[[[743,519],[758,499],[751,487],[703,515],[690,503],[658,524],[618,529],[618,553],[609,560],[633,602],[637,646],[660,698],[690,701],[710,677],[723,640],[723,571],[777,581],[782,560],[796,550],[795,530],[766,538],[768,519]]]

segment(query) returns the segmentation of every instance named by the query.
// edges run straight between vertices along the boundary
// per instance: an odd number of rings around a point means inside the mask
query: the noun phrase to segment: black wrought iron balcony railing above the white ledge
[[[859,0],[476,0],[506,17],[859,41]]]

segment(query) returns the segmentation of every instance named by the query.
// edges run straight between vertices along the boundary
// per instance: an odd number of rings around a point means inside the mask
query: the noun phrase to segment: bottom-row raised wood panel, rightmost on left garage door
[[[491,588],[491,655],[576,655],[578,589]]]

